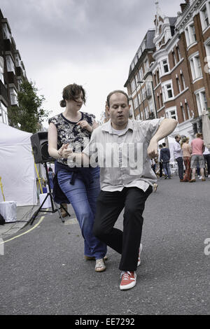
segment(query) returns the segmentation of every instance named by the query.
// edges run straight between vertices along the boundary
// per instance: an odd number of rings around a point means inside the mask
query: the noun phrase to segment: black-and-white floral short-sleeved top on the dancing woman
[[[80,113],[82,117],[79,121],[86,120],[92,126],[95,116],[86,112]],[[77,152],[81,152],[90,141],[91,133],[81,128],[80,125],[67,120],[62,113],[50,118],[48,123],[53,123],[57,128],[57,149],[61,148],[63,144],[69,143],[69,147],[75,148]],[[67,165],[66,159],[57,159],[57,161]]]

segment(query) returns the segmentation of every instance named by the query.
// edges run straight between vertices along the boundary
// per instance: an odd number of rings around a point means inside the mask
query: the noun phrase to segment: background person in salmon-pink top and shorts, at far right
[[[205,160],[204,160],[204,141],[203,136],[201,133],[196,134],[196,139],[191,141],[191,148],[192,148],[192,155],[191,155],[191,164],[190,167],[192,169],[192,179],[190,179],[190,183],[195,182],[195,172],[197,169],[197,164],[200,167],[200,174],[202,175],[202,181],[206,181],[204,176],[204,167],[205,167]]]

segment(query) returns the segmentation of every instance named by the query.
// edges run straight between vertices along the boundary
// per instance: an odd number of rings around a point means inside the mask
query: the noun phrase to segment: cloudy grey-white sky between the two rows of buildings
[[[181,2],[159,0],[159,6],[176,17]],[[64,111],[63,88],[77,83],[87,92],[81,111],[99,120],[107,94],[127,91],[132,59],[155,27],[155,0],[1,0],[0,6],[50,117]]]

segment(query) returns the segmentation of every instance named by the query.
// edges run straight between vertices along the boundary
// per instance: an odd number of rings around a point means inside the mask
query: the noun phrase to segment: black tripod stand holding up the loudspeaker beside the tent
[[[55,212],[58,211],[59,218],[61,218],[62,223],[64,223],[64,218],[62,217],[62,213],[61,213],[59,207],[57,206],[57,203],[54,202],[54,200],[52,198],[52,192],[51,192],[51,188],[50,188],[50,180],[49,180],[49,175],[48,175],[48,166],[47,166],[46,162],[44,163],[44,166],[45,166],[45,172],[46,172],[47,181],[48,181],[49,192],[45,196],[45,199],[43,200],[41,206],[34,212],[33,216],[31,216],[31,218],[29,219],[29,223],[31,225],[34,223],[34,220],[36,219],[36,216],[38,216],[38,213],[41,212],[41,211],[43,211],[45,213],[51,213],[51,214],[55,214]],[[50,197],[50,203],[51,203],[52,210],[42,210],[41,207],[43,206],[43,204],[45,203],[45,200],[47,200],[48,197]],[[55,204],[55,207],[54,207],[54,204]],[[66,209],[62,206],[62,204],[60,204],[60,206],[62,207],[62,209],[64,209],[64,211],[66,211]],[[66,211],[66,213],[69,215],[69,217],[71,216],[68,211]]]

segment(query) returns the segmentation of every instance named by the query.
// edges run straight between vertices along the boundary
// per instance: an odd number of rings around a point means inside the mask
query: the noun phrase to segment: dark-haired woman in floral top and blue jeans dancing
[[[78,219],[85,243],[85,259],[95,259],[95,271],[102,272],[106,269],[106,244],[92,235],[100,191],[99,167],[73,167],[74,164],[69,160],[67,165],[67,158],[71,154],[68,146],[76,152],[83,151],[97,123],[92,114],[80,111],[83,103],[85,104],[85,90],[81,85],[67,85],[62,95],[60,106],[65,107],[65,111],[49,120],[48,152],[57,159],[59,187],[71,203]]]

